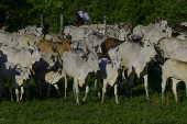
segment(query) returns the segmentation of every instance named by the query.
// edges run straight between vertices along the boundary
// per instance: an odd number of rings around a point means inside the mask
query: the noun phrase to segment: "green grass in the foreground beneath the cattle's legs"
[[[90,92],[86,102],[80,102],[77,106],[74,103],[72,90],[73,79],[68,79],[67,99],[64,101],[64,90],[59,99],[56,89],[52,86],[51,98],[47,99],[46,83],[43,86],[43,95],[35,93],[33,80],[30,87],[31,100],[24,99],[20,103],[10,102],[10,97],[3,97],[0,103],[0,124],[120,124],[120,123],[187,123],[186,91],[179,84],[178,100],[175,103],[174,94],[168,90],[165,92],[165,101],[161,102],[161,71],[148,70],[148,92],[150,102],[145,100],[144,87],[138,80],[138,86],[133,88],[133,98],[119,95],[120,104],[114,102],[113,88],[106,93],[105,104],[101,105],[94,92],[94,80],[90,79]],[[63,79],[58,86],[62,87]],[[25,86],[24,86],[25,90]],[[79,88],[79,99],[85,94],[85,87]],[[7,91],[8,87],[7,87]],[[13,90],[14,93],[14,90]],[[15,94],[14,94],[15,100]]]

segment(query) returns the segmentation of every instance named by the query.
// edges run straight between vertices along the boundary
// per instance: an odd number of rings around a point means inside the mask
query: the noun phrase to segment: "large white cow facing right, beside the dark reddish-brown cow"
[[[136,74],[139,78],[140,76],[143,76],[144,78],[146,99],[148,100],[147,66],[148,61],[151,61],[151,58],[155,58],[157,55],[154,44],[151,41],[144,41],[143,44],[127,41],[119,45],[119,48],[116,48],[114,54],[118,56],[118,58],[122,58],[122,66],[124,66],[124,68],[128,70],[128,77],[130,77],[131,97],[133,75]]]

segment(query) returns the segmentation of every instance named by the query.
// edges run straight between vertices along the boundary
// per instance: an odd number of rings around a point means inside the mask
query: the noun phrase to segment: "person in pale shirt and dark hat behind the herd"
[[[88,13],[86,12],[85,7],[80,11],[78,11],[78,14],[80,15],[82,24],[87,24],[87,20],[89,21],[90,24],[92,24]]]

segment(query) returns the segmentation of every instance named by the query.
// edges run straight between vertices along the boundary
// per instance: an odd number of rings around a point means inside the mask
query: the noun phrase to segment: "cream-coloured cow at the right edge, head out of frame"
[[[176,103],[178,102],[177,99],[177,91],[176,87],[179,81],[184,81],[185,84],[187,83],[187,63],[186,61],[180,61],[174,58],[167,59],[162,66],[162,102],[164,101],[164,91],[166,87],[166,80],[168,78],[172,78],[173,80],[173,92],[175,95],[175,101]],[[187,84],[186,84],[187,88]],[[187,90],[186,90],[187,93]]]

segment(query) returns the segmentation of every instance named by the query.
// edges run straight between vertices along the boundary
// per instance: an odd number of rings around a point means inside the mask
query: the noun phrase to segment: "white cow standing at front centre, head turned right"
[[[87,46],[88,47],[88,46]],[[74,77],[74,97],[76,100],[76,103],[79,104],[78,100],[78,84],[82,87],[82,84],[86,82],[86,95],[84,98],[84,101],[86,100],[87,93],[89,91],[88,87],[88,80],[87,76],[89,72],[97,72],[99,70],[98,65],[98,55],[96,52],[91,50],[90,53],[86,54],[82,50],[70,50],[70,52],[64,52],[63,53],[63,67],[67,76]],[[67,86],[67,81],[65,81],[65,86]]]

